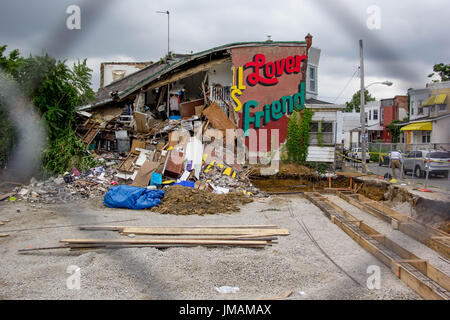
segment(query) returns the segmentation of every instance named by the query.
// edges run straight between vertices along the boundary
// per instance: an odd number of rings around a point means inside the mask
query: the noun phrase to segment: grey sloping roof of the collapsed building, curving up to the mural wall
[[[210,54],[226,52],[237,47],[252,46],[306,46],[305,41],[253,41],[235,42],[208,50],[200,51],[191,55],[175,55],[164,62],[157,62],[149,65],[137,72],[134,72],[120,80],[117,80],[104,88],[100,88],[96,93],[96,100],[92,107],[105,105],[114,100],[122,100],[133,92],[141,89],[145,85],[159,79],[170,71],[186,65],[189,62],[204,58]],[[326,103],[326,102],[325,102]]]

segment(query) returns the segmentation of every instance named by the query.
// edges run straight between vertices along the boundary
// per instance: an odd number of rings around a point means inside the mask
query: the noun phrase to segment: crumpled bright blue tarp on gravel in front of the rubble
[[[156,207],[164,197],[163,190],[147,190],[146,188],[121,185],[111,188],[103,199],[109,208],[147,209]]]

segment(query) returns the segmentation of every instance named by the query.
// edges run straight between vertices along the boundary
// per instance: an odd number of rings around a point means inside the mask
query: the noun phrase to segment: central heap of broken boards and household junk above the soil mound
[[[202,116],[207,118],[206,122]],[[146,122],[144,118],[136,123],[140,125],[131,151],[115,175],[121,183],[160,188],[190,182],[184,185],[214,193],[260,194],[248,179],[248,169],[240,164],[227,164],[223,159],[229,157],[225,157],[222,146],[205,144],[199,138],[207,135],[209,129],[235,128],[216,103],[204,109],[200,116],[166,121],[163,126],[159,122],[160,126],[152,129],[147,128],[147,123],[155,123],[154,119]]]

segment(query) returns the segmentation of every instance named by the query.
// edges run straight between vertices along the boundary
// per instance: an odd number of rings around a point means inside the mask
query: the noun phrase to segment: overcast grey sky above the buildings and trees
[[[68,30],[66,9],[81,9],[81,30]],[[369,29],[369,6],[380,10],[380,29]],[[447,8],[447,9],[445,9]],[[319,99],[343,103],[358,90],[359,39],[364,40],[365,81],[377,99],[406,94],[429,79],[436,63],[450,63],[447,0],[1,0],[0,45],[22,54],[42,51],[69,62],[87,58],[93,88],[100,62],[158,61],[170,50],[197,52],[238,41],[304,40],[322,50]],[[374,20],[371,20],[374,21]]]

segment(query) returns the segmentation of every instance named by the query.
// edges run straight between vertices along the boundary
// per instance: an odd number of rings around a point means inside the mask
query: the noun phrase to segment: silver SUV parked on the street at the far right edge
[[[450,169],[450,152],[441,150],[410,151],[403,158],[403,171],[413,172],[417,178],[425,177],[426,172],[431,175],[441,174],[446,178]]]

